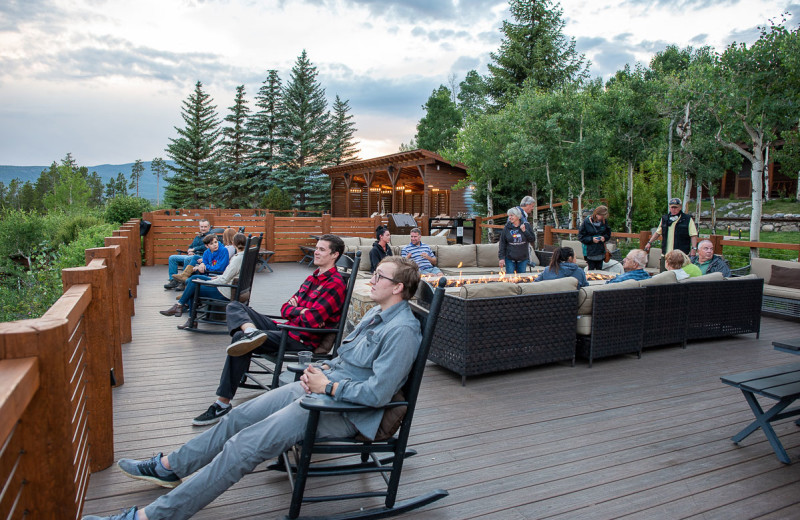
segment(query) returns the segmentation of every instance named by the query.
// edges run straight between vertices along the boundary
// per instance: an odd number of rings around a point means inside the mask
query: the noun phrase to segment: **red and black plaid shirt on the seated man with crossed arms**
[[[339,323],[342,305],[347,292],[342,275],[336,268],[320,273],[319,269],[306,278],[295,293],[297,305],[289,302],[281,307],[281,316],[288,325],[312,327],[315,329],[334,328]],[[308,309],[302,312],[303,309]],[[301,341],[310,348],[317,348],[322,338],[310,332],[289,332],[292,339]]]

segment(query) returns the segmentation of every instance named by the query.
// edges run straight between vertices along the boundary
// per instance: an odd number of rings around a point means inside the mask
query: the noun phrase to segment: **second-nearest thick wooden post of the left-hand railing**
[[[86,267],[63,269],[61,277],[66,292],[78,284],[92,287],[92,299],[84,311],[86,338],[87,410],[89,424],[89,470],[100,471],[114,463],[114,416],[111,407],[113,351],[109,348],[109,330],[113,317],[113,287],[105,261],[92,260]]]

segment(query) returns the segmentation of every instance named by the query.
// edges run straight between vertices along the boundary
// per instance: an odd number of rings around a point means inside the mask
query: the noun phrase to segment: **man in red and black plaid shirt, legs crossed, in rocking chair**
[[[335,235],[322,235],[314,251],[317,270],[306,278],[300,289],[281,307],[281,317],[288,325],[316,329],[333,328],[339,323],[347,287],[336,270],[336,261],[344,254],[344,242]],[[242,376],[250,367],[253,352],[275,353],[281,332],[274,321],[239,302],[226,309],[228,331],[233,341],[220,376],[217,400],[206,412],[192,421],[195,426],[214,424],[231,410]],[[322,337],[309,332],[289,332],[287,352],[316,350]]]

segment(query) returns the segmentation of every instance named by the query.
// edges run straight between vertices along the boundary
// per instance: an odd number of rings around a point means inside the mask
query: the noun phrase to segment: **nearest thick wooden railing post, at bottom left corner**
[[[76,518],[82,504],[76,503],[70,442],[71,392],[64,359],[68,325],[65,318],[0,323],[0,359],[38,358],[42,381],[14,432],[23,453],[17,474],[26,483],[19,503],[27,518]]]

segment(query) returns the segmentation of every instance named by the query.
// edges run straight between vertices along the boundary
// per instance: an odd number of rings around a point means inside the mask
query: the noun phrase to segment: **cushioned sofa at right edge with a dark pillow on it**
[[[800,262],[753,258],[750,274],[764,279],[762,312],[778,317],[800,319],[800,288],[791,287],[792,282],[798,284],[800,280]]]

